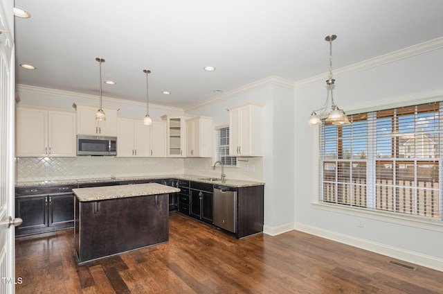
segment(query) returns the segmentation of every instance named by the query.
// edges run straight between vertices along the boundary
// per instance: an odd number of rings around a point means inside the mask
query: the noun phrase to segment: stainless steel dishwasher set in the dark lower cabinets
[[[214,225],[235,233],[237,227],[237,191],[233,187],[214,185]]]

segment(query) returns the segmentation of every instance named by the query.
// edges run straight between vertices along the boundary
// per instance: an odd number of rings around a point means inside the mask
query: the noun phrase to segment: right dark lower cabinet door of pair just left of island
[[[48,196],[49,226],[72,227],[74,222],[74,194]]]

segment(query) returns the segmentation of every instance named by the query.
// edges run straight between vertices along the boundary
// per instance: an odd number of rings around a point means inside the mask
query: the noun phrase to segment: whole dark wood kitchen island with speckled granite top
[[[73,189],[78,263],[169,240],[169,193],[163,184]]]

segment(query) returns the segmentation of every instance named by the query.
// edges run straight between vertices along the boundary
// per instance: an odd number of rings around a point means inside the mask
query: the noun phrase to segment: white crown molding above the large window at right
[[[363,71],[365,69],[370,69],[372,67],[379,67],[380,65],[387,64],[390,62],[395,62],[404,58],[408,58],[414,55],[419,55],[426,53],[428,51],[434,51],[443,48],[443,37],[439,37],[434,40],[416,44],[405,49],[400,49],[393,51],[384,55],[377,56],[375,58],[370,58],[368,60],[363,60],[351,64],[348,67],[342,67],[341,69],[334,70],[334,76],[345,76],[348,74],[354,74],[357,71]],[[295,89],[300,89],[302,87],[307,87],[316,83],[323,82],[327,78],[327,73],[319,74],[318,76],[313,76],[305,80],[300,80],[296,82]]]

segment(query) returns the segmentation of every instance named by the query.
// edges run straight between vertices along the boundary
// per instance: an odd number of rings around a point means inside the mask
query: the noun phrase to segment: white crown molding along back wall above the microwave
[[[69,91],[63,91],[63,90],[57,90],[57,89],[49,89],[49,88],[43,88],[43,87],[35,87],[35,86],[29,86],[29,85],[21,85],[16,84],[15,90],[20,92],[31,92],[31,93],[37,93],[37,94],[44,94],[44,95],[53,95],[53,96],[61,96],[63,98],[69,98],[74,99],[75,98],[82,98],[82,99],[91,99],[96,100],[98,99],[98,96],[96,95],[90,95],[90,94],[81,94],[78,92],[69,92]],[[104,97],[102,96],[102,100],[109,103],[115,103],[117,105],[132,105],[137,107],[146,107],[146,104],[143,102],[137,102],[137,101],[130,101],[125,99],[118,99],[118,98],[111,98],[111,97]],[[158,110],[172,110],[174,112],[183,112],[182,108],[179,107],[170,107],[165,105],[158,105],[158,104],[151,104],[150,108],[155,108]]]

